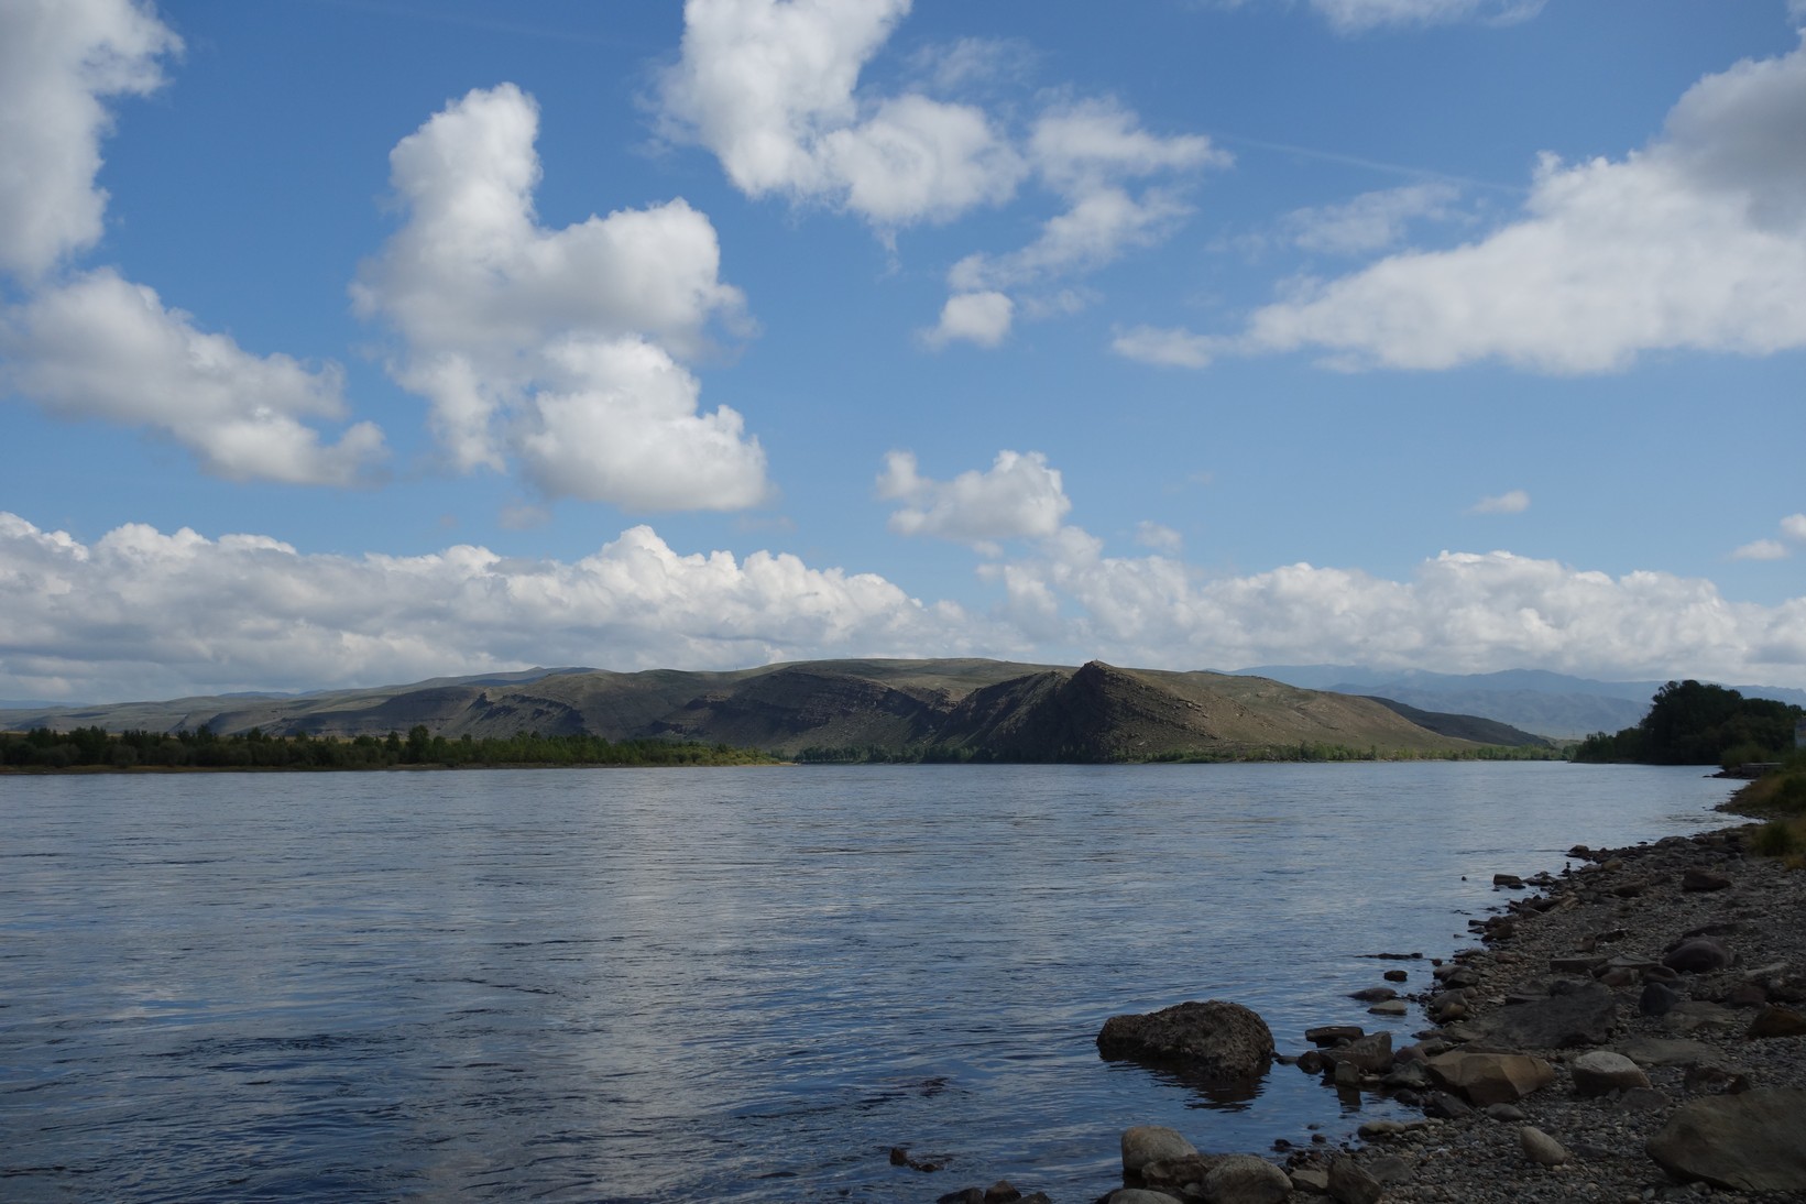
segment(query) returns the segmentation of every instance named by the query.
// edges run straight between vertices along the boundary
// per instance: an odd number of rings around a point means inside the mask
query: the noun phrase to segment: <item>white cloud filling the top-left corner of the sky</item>
[[[181,47],[148,4],[0,4],[0,271],[31,280],[99,240],[103,101],[154,92]]]

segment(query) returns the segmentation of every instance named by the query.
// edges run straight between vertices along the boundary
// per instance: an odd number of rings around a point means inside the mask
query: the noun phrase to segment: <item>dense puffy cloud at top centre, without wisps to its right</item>
[[[1022,162],[982,110],[854,96],[908,7],[690,0],[683,58],[663,79],[670,130],[712,150],[749,197],[833,204],[887,229],[1008,199]]]

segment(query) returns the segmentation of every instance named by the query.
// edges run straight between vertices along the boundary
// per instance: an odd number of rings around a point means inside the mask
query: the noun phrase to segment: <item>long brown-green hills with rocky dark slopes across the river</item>
[[[730,673],[529,670],[314,695],[0,713],[0,729],[101,726],[231,735],[507,736],[587,731],[845,756],[1111,762],[1299,746],[1447,753],[1539,738],[1472,715],[1261,677],[1006,661],[813,661]]]

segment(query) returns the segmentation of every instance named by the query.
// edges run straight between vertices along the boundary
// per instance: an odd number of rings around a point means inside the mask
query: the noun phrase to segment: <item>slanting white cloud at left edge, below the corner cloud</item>
[[[347,486],[385,457],[370,422],[332,446],[303,422],[345,415],[336,365],[253,356],[110,269],[0,310],[0,352],[7,392],[58,417],[166,433],[217,477]]]

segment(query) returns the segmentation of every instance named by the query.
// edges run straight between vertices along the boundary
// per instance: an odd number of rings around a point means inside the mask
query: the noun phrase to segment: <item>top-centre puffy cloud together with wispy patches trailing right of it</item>
[[[975,294],[1044,287],[1161,242],[1190,206],[1170,188],[1134,191],[1127,182],[1228,162],[1203,135],[1143,130],[1112,99],[1057,99],[1022,139],[1011,139],[977,105],[860,88],[860,72],[908,7],[908,0],[690,0],[683,56],[661,81],[661,103],[668,130],[712,150],[746,195],[833,206],[887,236],[1008,202],[1029,179],[1053,193],[1062,209],[1026,247],[954,265],[957,305],[928,345],[995,347],[1008,329],[995,300],[984,301],[981,336],[959,325],[961,316],[977,316]],[[937,54],[926,76],[939,88],[963,88],[1020,58],[1013,45],[968,40]],[[1020,305],[1029,314],[1060,309]]]

